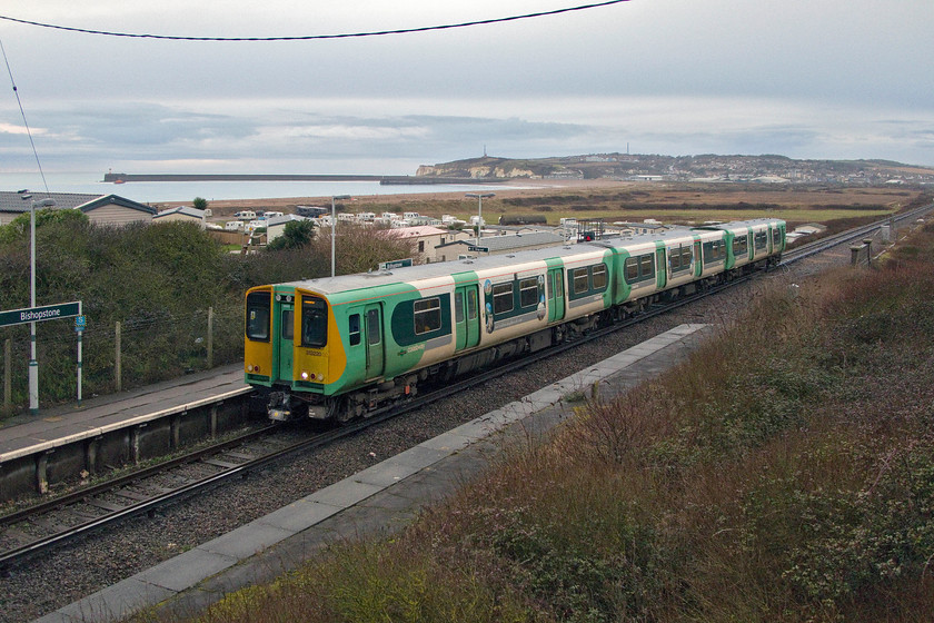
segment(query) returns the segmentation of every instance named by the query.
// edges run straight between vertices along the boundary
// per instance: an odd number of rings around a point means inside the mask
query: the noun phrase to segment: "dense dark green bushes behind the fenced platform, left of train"
[[[213,364],[242,357],[242,299],[247,288],[330,274],[330,240],[256,255],[225,253],[196,225],[92,225],[78,210],[36,215],[37,305],[81,300],[83,395],[116,387],[116,324],[121,324],[122,385],[131,387],[202,369],[207,315],[215,313]],[[411,246],[361,228],[339,228],[339,271],[411,256]],[[0,309],[29,307],[29,216],[0,227]],[[71,322],[38,325],[42,404],[77,395],[76,334]],[[12,400],[27,399],[28,329],[0,332],[14,345]]]

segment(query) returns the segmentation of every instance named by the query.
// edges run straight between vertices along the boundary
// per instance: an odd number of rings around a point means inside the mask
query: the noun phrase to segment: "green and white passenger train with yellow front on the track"
[[[605,323],[776,265],[755,219],[265,285],[246,295],[246,382],[271,419],[350,418]]]

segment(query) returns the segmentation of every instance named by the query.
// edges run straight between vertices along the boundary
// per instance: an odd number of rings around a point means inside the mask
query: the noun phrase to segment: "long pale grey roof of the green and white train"
[[[656,241],[675,240],[679,238],[693,238],[704,230],[726,230],[751,225],[775,222],[778,219],[755,219],[717,224],[699,228],[675,227],[660,233],[640,234],[636,236],[610,236],[589,243],[568,244],[560,247],[546,247],[541,249],[519,250],[513,254],[493,255],[473,259],[455,259],[437,261],[433,264],[420,264],[417,266],[404,266],[391,270],[374,270],[371,273],[357,273],[354,275],[339,275],[337,277],[322,277],[319,279],[302,279],[279,284],[287,287],[307,289],[320,294],[336,294],[348,290],[357,290],[389,284],[417,281],[437,277],[447,277],[458,273],[481,271],[495,269],[504,264],[525,264],[541,261],[552,258],[570,258],[593,253],[599,254],[612,248],[625,248],[629,246],[652,245]]]

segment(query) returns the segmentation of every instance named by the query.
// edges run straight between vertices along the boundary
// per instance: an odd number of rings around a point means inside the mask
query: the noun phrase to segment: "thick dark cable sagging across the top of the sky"
[[[54,30],[66,30],[69,32],[80,32],[83,34],[100,34],[106,37],[127,37],[131,39],[160,39],[170,41],[315,41],[320,39],[351,39],[361,37],[382,37],[388,34],[410,34],[415,32],[430,32],[435,30],[450,30],[455,28],[468,28],[474,26],[487,26],[493,23],[503,23],[509,21],[543,18],[548,16],[557,16],[560,13],[569,13],[574,11],[585,11],[588,9],[596,9],[600,7],[608,7],[610,4],[619,4],[628,2],[629,0],[605,0],[603,2],[594,2],[589,4],[579,4],[576,7],[566,7],[563,9],[554,9],[550,11],[537,11],[533,13],[523,13],[518,16],[509,16],[504,18],[490,18],[484,20],[465,21],[459,23],[447,23],[440,26],[424,26],[416,28],[400,28],[394,30],[374,30],[366,32],[342,32],[336,34],[300,34],[292,37],[183,37],[176,34],[148,34],[138,32],[118,32],[110,30],[92,30],[87,28],[76,28],[70,26],[60,26],[53,23],[44,23],[39,21],[12,18],[9,16],[0,16],[0,20],[22,23],[27,26],[36,26],[40,28],[50,28]]]

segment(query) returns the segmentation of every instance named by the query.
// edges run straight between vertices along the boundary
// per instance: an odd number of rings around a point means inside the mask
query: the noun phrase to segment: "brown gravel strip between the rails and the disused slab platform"
[[[480,389],[398,417],[276,469],[265,469],[179,503],[153,517],[130,518],[106,533],[37,557],[0,577],[0,623],[30,621],[229,532],[289,502],[449,431],[539,387],[684,323],[728,323],[741,301],[767,284],[788,285],[829,266],[848,249],[778,269],[731,291],[682,307],[600,340],[500,377]]]

